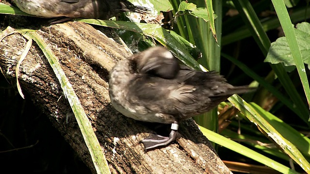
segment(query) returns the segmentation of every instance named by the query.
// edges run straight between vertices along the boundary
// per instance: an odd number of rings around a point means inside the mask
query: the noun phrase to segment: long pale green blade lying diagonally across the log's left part
[[[93,127],[85,111],[78,100],[77,94],[74,92],[72,85],[65,76],[61,65],[53,54],[52,50],[47,46],[43,39],[36,32],[26,32],[24,35],[33,39],[42,49],[50,66],[52,67],[56,77],[61,84],[64,96],[68,99],[74,115],[76,116],[78,126],[82,132],[85,143],[90,151],[93,164],[98,174],[110,174],[109,165],[106,157],[101,149],[98,139],[93,131]]]

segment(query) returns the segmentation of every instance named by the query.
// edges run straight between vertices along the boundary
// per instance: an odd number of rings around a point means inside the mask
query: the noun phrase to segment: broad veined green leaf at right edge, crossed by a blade
[[[297,24],[294,31],[304,63],[308,64],[310,69],[310,24],[307,22]],[[282,62],[285,66],[296,65],[286,37],[280,37],[276,42],[271,43],[264,61],[272,64]]]

